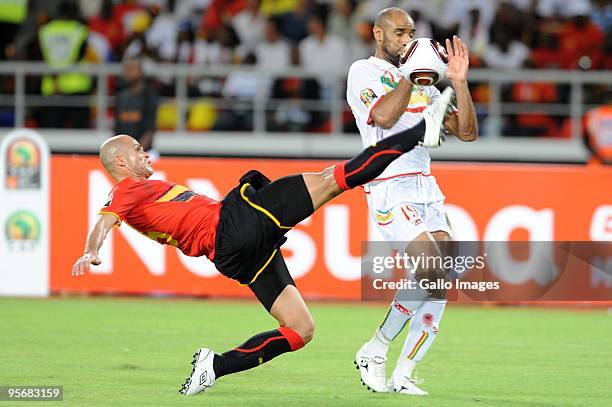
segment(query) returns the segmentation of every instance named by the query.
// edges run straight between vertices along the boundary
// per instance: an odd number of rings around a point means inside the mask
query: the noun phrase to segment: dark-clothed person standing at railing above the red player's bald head
[[[153,150],[156,130],[157,94],[146,82],[141,61],[128,58],[123,61],[123,88],[115,97],[115,134],[134,137],[152,159],[159,154]]]

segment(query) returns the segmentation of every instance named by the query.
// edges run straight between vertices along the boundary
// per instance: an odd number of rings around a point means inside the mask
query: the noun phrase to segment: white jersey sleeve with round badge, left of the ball
[[[347,79],[346,99],[355,117],[371,124],[370,113],[385,95],[380,77],[366,61],[351,65]]]

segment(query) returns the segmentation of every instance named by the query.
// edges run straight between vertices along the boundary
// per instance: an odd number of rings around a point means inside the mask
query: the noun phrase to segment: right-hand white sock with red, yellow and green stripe
[[[446,300],[429,299],[414,313],[408,337],[397,361],[398,373],[410,377],[416,364],[423,359],[436,338],[445,307]]]

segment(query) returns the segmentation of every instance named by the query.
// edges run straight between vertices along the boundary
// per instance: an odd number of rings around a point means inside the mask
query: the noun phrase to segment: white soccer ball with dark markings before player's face
[[[438,41],[417,38],[411,41],[400,58],[400,71],[415,85],[432,86],[444,79],[448,55]]]

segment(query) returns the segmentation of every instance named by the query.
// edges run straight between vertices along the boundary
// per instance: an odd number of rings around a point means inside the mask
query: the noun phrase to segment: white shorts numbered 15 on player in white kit
[[[387,211],[375,210],[374,218],[383,238],[400,252],[406,249],[401,242],[410,242],[423,232],[443,231],[453,236],[443,201],[400,203]]]

